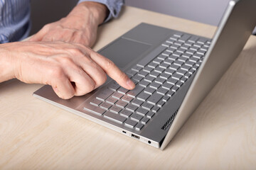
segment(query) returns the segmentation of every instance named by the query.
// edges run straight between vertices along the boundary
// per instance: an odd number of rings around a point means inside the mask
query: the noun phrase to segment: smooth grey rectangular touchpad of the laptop
[[[119,68],[124,68],[129,62],[142,55],[151,45],[119,38],[105,47],[99,53],[114,62]]]

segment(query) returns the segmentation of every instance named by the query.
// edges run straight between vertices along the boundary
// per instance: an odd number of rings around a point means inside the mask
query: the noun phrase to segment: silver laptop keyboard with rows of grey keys
[[[85,111],[142,130],[196,73],[209,46],[206,38],[175,33],[126,72],[135,89],[112,81],[85,102]]]

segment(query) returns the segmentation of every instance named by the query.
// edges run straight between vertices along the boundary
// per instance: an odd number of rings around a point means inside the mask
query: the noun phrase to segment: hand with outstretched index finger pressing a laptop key
[[[11,42],[0,45],[0,82],[17,78],[49,84],[60,98],[82,96],[105,83],[108,74],[126,89],[134,83],[112,61],[81,44]]]

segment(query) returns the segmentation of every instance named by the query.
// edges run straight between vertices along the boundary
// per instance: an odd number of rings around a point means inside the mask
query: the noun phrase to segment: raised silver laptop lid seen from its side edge
[[[242,51],[256,26],[255,6],[255,0],[232,0],[228,4],[206,57],[188,89],[161,149],[169,144],[189,115],[196,110]]]

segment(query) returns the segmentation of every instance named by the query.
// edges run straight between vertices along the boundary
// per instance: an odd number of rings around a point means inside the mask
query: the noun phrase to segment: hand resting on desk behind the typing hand
[[[75,42],[92,47],[96,40],[97,27],[104,21],[107,13],[107,7],[103,4],[82,2],[65,18],[44,26],[30,41]]]

